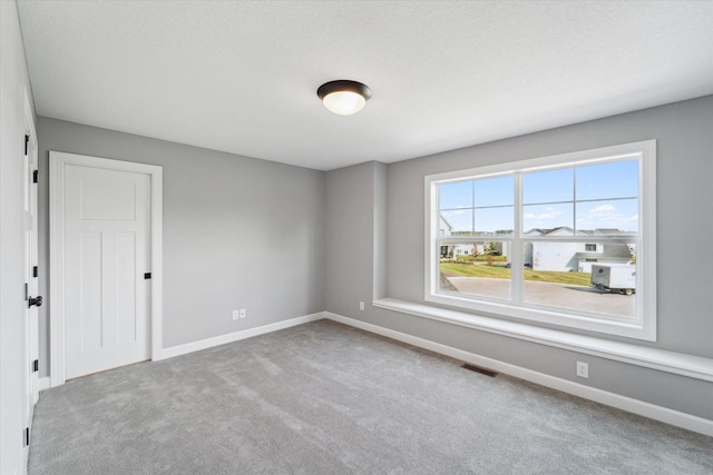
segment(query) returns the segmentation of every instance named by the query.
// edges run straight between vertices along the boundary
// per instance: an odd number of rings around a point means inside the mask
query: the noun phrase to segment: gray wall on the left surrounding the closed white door
[[[38,136],[42,295],[56,150],[164,167],[164,347],[324,309],[324,172],[42,117]],[[234,321],[237,308],[247,318]]]

